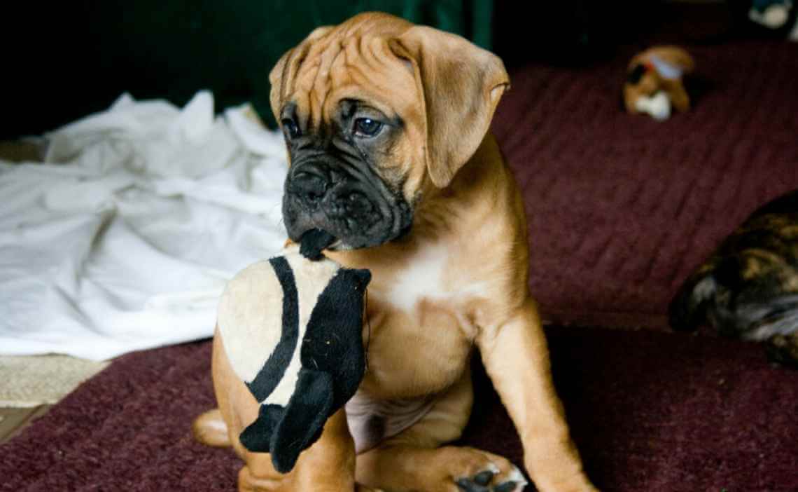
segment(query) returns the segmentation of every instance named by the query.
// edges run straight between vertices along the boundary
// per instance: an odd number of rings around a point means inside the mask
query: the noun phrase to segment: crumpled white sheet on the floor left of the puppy
[[[282,248],[285,148],[246,105],[124,95],[46,140],[0,161],[0,355],[208,337],[226,281]]]

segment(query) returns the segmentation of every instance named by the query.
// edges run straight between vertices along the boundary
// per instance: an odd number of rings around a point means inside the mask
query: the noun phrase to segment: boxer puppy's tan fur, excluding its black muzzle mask
[[[357,459],[339,411],[319,442],[282,476],[268,454],[249,453],[238,442],[258,407],[216,337],[219,417],[246,462],[239,489],[353,490],[357,478],[363,487],[455,492],[456,478],[486,469],[498,471],[492,485],[518,478],[504,458],[442,446],[468,422],[474,398],[469,359],[476,347],[516,424],[523,464],[538,489],[595,490],[569,438],[527,288],[523,201],[496,141],[486,134],[508,84],[500,60],[452,34],[361,14],[310,34],[282,58],[271,82],[278,119],[283,102],[298,101],[302,125],[313,128],[343,97],[358,97],[405,122],[380,172],[402,182],[402,192],[416,203],[411,232],[377,248],[328,253],[346,267],[369,268],[373,276],[370,333],[364,332],[369,367],[359,391],[376,399],[437,400],[419,422]],[[197,435],[210,420],[200,417]]]

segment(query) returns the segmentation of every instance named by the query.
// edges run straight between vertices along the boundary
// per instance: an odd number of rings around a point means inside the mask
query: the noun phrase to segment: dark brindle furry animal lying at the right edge
[[[682,284],[670,326],[710,324],[721,335],[764,341],[798,368],[798,190],[758,208]]]

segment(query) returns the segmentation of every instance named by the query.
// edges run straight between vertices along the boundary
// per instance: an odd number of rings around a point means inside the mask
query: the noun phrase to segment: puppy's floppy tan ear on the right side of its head
[[[411,27],[389,46],[412,66],[423,96],[429,177],[444,188],[488,132],[510,85],[504,63],[460,36],[426,26]]]

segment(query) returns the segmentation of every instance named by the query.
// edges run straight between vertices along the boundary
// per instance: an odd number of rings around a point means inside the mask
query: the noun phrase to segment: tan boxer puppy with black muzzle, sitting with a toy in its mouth
[[[320,27],[270,76],[290,169],[291,240],[334,236],[327,255],[368,268],[368,369],[294,470],[241,446],[258,412],[215,337],[219,409],[200,441],[246,462],[239,490],[521,490],[507,459],[468,447],[469,360],[485,368],[543,492],[595,490],[551,383],[546,339],[527,287],[523,201],[488,126],[508,74],[452,34],[386,14]]]

